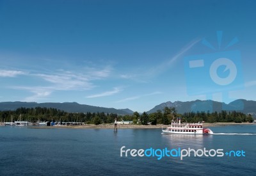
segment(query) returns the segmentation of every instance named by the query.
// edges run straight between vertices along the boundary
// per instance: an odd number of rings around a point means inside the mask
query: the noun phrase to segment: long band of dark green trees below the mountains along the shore
[[[83,122],[85,124],[105,124],[118,121],[132,121],[133,124],[142,125],[168,125],[173,118],[182,118],[183,122],[253,122],[251,115],[246,115],[237,111],[221,111],[214,113],[190,112],[183,115],[177,113],[175,108],[164,108],[163,111],[156,111],[156,113],[138,113],[134,112],[132,115],[117,115],[115,113],[68,113],[56,108],[18,108],[15,111],[0,111],[0,118],[3,122],[11,122],[12,120],[26,120],[29,122],[45,121],[45,122]]]

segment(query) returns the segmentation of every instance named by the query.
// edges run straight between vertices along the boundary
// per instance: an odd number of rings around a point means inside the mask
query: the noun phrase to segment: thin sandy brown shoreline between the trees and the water
[[[243,122],[216,122],[214,124],[204,123],[204,127],[214,127],[214,126],[227,126],[227,125],[253,125],[253,123]],[[118,129],[161,129],[166,128],[168,125],[132,125],[132,124],[118,124]],[[86,124],[86,125],[63,125],[63,126],[31,126],[30,128],[35,129],[114,129],[113,124]]]

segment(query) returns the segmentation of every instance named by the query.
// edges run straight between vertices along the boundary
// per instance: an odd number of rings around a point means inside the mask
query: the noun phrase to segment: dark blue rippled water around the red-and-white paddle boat
[[[256,125],[209,128],[215,134],[161,134],[161,129],[118,129],[114,133],[113,129],[0,127],[0,175],[255,175]],[[243,150],[245,156],[232,153],[195,157],[192,152],[191,157],[181,160],[179,156],[132,157],[128,152],[127,157],[125,153],[121,157],[123,146],[124,150]]]

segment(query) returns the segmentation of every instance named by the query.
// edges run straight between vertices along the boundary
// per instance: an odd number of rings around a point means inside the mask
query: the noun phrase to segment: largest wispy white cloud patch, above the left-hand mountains
[[[25,72],[12,73],[13,76],[15,76],[15,74],[25,74]],[[111,67],[109,66],[104,68],[85,67],[81,70],[59,69],[49,73],[33,71],[26,74],[28,79],[29,77],[34,79],[36,78],[38,79],[39,84],[46,84],[47,86],[12,86],[11,88],[31,92],[33,95],[26,97],[24,100],[36,101],[47,99],[47,97],[49,97],[52,92],[56,91],[90,90],[96,86],[93,81],[105,79],[109,76],[110,73]],[[45,81],[45,83],[42,81]],[[106,94],[116,93],[118,91],[120,91],[120,89],[115,89],[113,92],[106,92]]]

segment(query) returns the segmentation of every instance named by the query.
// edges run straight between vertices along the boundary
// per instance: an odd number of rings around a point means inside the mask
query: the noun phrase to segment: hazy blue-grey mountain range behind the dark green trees
[[[15,110],[17,108],[56,108],[70,113],[116,113],[118,115],[127,115],[134,113],[131,109],[115,109],[115,108],[103,108],[98,106],[90,106],[86,104],[78,104],[77,102],[0,102],[0,111]],[[165,107],[175,107],[177,113],[188,113],[191,111],[209,111],[209,112],[220,112],[221,110],[227,111],[241,111],[242,113],[251,113],[253,116],[256,115],[256,101],[238,99],[225,104],[224,102],[217,102],[213,100],[193,100],[193,101],[175,101],[175,102],[164,102],[154,108],[147,111],[147,113],[154,113],[157,110],[163,110]]]

